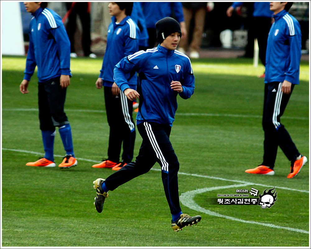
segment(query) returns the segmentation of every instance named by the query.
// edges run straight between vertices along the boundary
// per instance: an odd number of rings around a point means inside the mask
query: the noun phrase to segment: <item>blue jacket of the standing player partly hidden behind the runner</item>
[[[114,66],[124,57],[138,51],[139,29],[137,24],[126,16],[119,24],[116,18],[111,17],[108,26],[107,46],[104,54],[103,65],[98,78],[103,79],[105,87],[112,87],[114,83]],[[128,73],[126,78],[133,89],[136,89],[137,74]]]

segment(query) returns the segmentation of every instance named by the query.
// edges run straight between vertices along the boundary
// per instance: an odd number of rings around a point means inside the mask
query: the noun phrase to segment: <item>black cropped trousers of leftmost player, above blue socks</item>
[[[55,126],[69,124],[64,104],[67,88],[60,86],[59,77],[38,83],[39,121],[41,130],[54,131]]]

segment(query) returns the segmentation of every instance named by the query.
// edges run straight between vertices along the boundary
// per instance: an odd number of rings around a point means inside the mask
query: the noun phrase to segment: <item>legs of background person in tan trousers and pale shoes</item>
[[[182,5],[188,38],[180,40],[178,50],[182,53],[188,51],[188,43],[191,41],[189,45],[190,50],[189,57],[199,58],[200,57],[199,50],[202,43],[202,34],[204,30],[207,3],[182,2]],[[190,23],[192,19],[194,19],[194,27],[191,26],[193,34],[192,36],[190,36]]]

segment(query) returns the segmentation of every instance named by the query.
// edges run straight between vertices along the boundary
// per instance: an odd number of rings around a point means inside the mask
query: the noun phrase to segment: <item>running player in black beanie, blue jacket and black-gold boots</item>
[[[169,140],[177,96],[188,99],[194,92],[194,76],[190,59],[175,50],[182,35],[180,25],[171,17],[156,23],[157,40],[154,49],[138,51],[123,58],[114,68],[114,80],[129,100],[139,98],[137,129],[142,136],[142,145],[135,162],[124,166],[106,180],[96,179],[95,207],[101,213],[108,190],[147,173],[158,162],[162,171],[165,196],[172,214],[174,231],[197,224],[201,216],[183,214],[179,204],[178,158]],[[126,75],[139,73],[138,91],[128,83]]]

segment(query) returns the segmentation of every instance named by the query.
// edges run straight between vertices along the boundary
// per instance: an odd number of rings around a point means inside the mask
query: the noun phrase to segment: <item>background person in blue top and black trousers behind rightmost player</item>
[[[227,9],[227,16],[231,17],[237,7],[243,5],[243,2],[233,2]],[[248,3],[248,42],[243,57],[253,58],[254,39],[258,41],[259,58],[264,66],[266,66],[266,50],[268,34],[272,25],[273,12],[270,10],[270,2],[254,2]],[[259,76],[264,78],[264,73]]]

